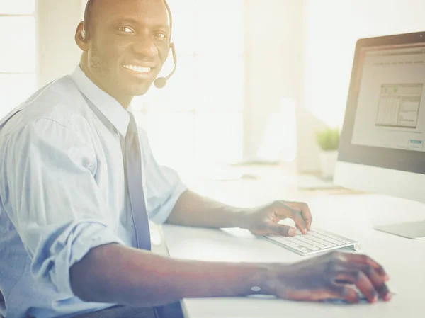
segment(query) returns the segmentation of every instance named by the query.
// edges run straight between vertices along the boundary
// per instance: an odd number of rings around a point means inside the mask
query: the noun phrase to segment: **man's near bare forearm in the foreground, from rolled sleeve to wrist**
[[[183,298],[249,295],[268,276],[264,264],[184,261],[108,244],[71,268],[74,294],[86,302],[154,307]]]

